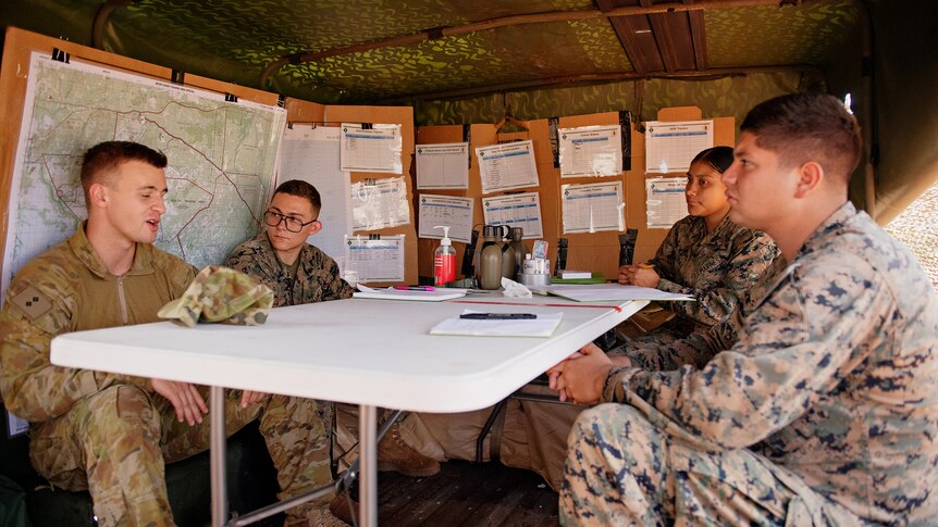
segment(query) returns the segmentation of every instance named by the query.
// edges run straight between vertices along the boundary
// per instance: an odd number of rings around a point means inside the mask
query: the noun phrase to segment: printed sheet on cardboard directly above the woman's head
[[[691,160],[713,147],[713,121],[650,121],[645,124],[645,172],[687,172]]]

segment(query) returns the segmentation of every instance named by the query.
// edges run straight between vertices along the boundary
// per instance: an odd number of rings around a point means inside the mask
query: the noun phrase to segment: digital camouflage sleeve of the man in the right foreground
[[[851,364],[863,360],[854,354],[869,352],[862,343],[881,330],[894,305],[883,279],[860,259],[817,259],[790,269],[746,317],[740,340],[705,366],[616,369],[604,398],[646,413],[654,409],[714,444],[750,447],[849,375]],[[713,338],[714,330],[695,338]]]

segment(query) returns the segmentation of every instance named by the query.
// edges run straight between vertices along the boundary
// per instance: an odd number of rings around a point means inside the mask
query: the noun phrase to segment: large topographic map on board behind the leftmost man
[[[2,287],[87,216],[89,147],[128,140],[169,158],[157,247],[201,268],[258,233],[274,180],[283,109],[33,53],[11,186]]]

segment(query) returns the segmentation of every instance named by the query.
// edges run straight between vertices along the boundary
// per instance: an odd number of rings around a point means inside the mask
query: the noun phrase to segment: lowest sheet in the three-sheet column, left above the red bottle
[[[359,283],[404,281],[404,235],[350,236],[345,240],[347,271]]]

